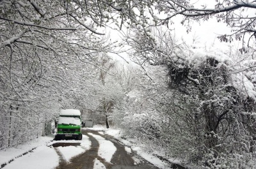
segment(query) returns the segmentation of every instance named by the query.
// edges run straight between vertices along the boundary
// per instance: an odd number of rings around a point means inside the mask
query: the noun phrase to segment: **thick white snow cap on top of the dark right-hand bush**
[[[254,72],[246,72],[246,71],[240,71],[241,68],[237,68],[236,61],[234,61],[230,56],[225,54],[224,52],[218,50],[218,48],[212,47],[210,49],[206,49],[200,45],[191,45],[188,50],[184,50],[184,55],[179,55],[182,57],[180,61],[186,62],[189,67],[196,68],[202,66],[204,64],[205,66],[209,66],[207,64],[207,59],[214,59],[218,61],[218,64],[214,69],[219,69],[221,66],[224,66],[225,68],[228,68],[228,73],[230,73],[232,77],[232,85],[236,87],[237,91],[241,94],[243,99],[246,99],[247,97],[253,98],[256,101],[256,88],[253,85],[253,82],[256,82],[256,75]],[[179,61],[178,61],[179,62]],[[177,62],[177,63],[178,63]],[[181,65],[182,62],[179,62]],[[186,65],[186,64],[185,64]],[[256,61],[253,59],[249,59],[246,61],[241,62],[239,65],[250,68],[256,65]],[[186,67],[186,66],[185,66]],[[185,68],[184,66],[179,66],[180,69]],[[237,73],[237,71],[239,71]],[[249,80],[247,77],[249,76],[251,80]]]

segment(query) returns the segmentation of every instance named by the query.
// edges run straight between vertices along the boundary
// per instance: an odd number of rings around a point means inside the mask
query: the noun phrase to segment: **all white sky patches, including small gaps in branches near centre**
[[[202,8],[201,5],[207,4],[207,8],[214,8],[214,5],[216,4],[215,0],[191,0],[191,3],[196,8]],[[162,16],[162,17],[161,17]],[[160,14],[157,17],[163,18],[164,15]],[[217,38],[221,34],[230,34],[231,29],[227,26],[227,24],[223,22],[217,22],[216,18],[209,18],[207,21],[200,21],[193,22],[191,25],[191,32],[187,33],[186,27],[182,26],[180,24],[182,20],[181,15],[177,15],[176,17],[172,18],[174,21],[174,24],[170,26],[171,29],[173,29],[173,34],[175,34],[175,37],[177,40],[180,40],[179,42],[182,43],[182,40],[184,40],[188,45],[193,44],[193,39],[196,39],[196,45],[205,46],[207,48],[215,47],[220,48],[220,50],[228,50],[230,45],[234,45],[234,47],[241,48],[241,41],[233,41],[230,43],[220,42],[220,40]],[[110,38],[112,41],[118,40],[119,36],[116,31],[110,31]],[[178,42],[178,43],[179,43]],[[123,55],[125,59],[127,56],[125,54]],[[121,58],[118,58],[114,56],[117,60],[122,60]],[[127,59],[129,61],[129,59]],[[129,61],[130,62],[130,61]]]

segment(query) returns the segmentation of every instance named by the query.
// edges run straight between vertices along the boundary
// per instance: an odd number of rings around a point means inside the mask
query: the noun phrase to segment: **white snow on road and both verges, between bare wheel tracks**
[[[146,153],[145,151],[143,151],[143,149],[138,147],[138,145],[135,145],[134,143],[130,142],[129,139],[128,140],[122,139],[121,138],[122,134],[118,129],[106,129],[103,126],[95,126],[90,129],[99,131],[101,135],[106,133],[108,135],[114,136],[116,139],[124,143],[125,151],[127,151],[128,153],[131,153],[131,151],[136,151],[138,155],[147,159],[150,163],[154,164],[155,166],[159,168],[164,168],[164,169],[170,168],[167,163],[164,163],[163,161],[156,158],[156,156],[153,156],[152,154]],[[89,134],[92,135],[94,138],[96,138],[97,141],[99,142],[99,156],[101,158],[106,159],[106,161],[110,162],[113,154],[116,151],[116,147],[113,145],[113,143],[109,142],[108,140],[105,140],[102,136],[93,135],[92,133],[89,133]],[[61,155],[63,156],[63,159],[65,159],[67,162],[70,161],[70,159],[73,158],[74,156],[77,156],[78,154],[81,154],[87,151],[88,149],[90,149],[90,146],[92,144],[88,136],[86,135],[83,135],[83,140],[52,141],[52,139],[53,139],[53,135],[44,136],[34,140],[33,142],[20,145],[17,148],[10,148],[10,149],[5,149],[0,151],[0,168],[1,168],[1,165],[3,164],[6,164],[6,166],[3,166],[4,169],[55,168],[56,166],[58,166],[60,159],[58,157],[56,150],[51,146],[53,143],[56,143],[56,142],[81,143],[79,146],[76,146],[76,147],[67,146],[67,147],[56,148],[57,151],[60,152]],[[24,154],[26,152],[28,153]],[[108,154],[108,156],[105,156],[106,154]],[[9,163],[9,161],[12,161],[12,162]],[[134,161],[135,161],[134,163],[140,162],[138,161],[138,159],[134,159]],[[179,161],[175,161],[175,162],[178,163]],[[94,169],[104,168],[104,165],[100,163],[98,159],[95,159],[93,168]]]

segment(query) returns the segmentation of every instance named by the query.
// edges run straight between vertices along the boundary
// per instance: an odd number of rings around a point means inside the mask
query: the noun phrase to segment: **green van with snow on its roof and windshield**
[[[61,110],[54,140],[82,140],[81,112],[74,109]]]

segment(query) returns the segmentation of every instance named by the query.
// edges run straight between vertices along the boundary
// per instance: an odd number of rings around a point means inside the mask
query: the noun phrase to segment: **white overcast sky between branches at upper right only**
[[[220,0],[221,2],[224,0]],[[214,8],[216,4],[216,0],[190,0],[190,3],[193,4],[195,8],[202,8],[202,5],[206,5],[207,8]],[[240,13],[237,11],[237,13]],[[255,9],[251,8],[244,8],[243,15],[248,15],[250,17],[255,17]],[[232,41],[232,43],[225,43],[220,42],[217,38],[221,34],[231,34],[230,27],[227,26],[226,23],[217,22],[216,18],[212,17],[209,20],[203,21],[200,20],[200,23],[193,22],[191,24],[191,32],[188,34],[186,33],[186,27],[180,24],[181,15],[173,18],[175,24],[172,26],[175,29],[175,34],[177,38],[184,38],[187,43],[191,43],[193,40],[193,36],[198,38],[198,45],[205,45],[207,47],[217,47],[223,50],[227,49],[230,45],[234,46],[234,48],[241,48],[242,42],[241,41]],[[248,39],[249,35],[245,36],[245,41]]]

